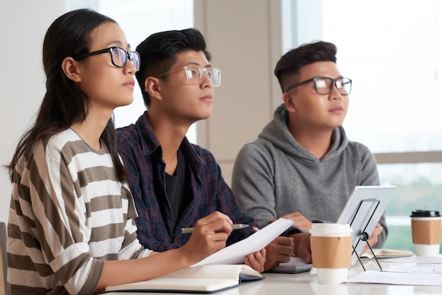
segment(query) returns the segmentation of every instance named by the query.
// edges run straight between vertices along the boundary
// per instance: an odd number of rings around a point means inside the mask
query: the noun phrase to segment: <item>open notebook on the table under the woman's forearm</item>
[[[201,265],[143,282],[108,286],[105,291],[213,293],[263,278],[248,265]]]

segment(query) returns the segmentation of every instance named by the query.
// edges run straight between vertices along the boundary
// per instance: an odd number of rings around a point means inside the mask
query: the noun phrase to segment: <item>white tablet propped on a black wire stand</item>
[[[352,243],[356,252],[353,251],[352,254],[352,265],[357,262],[357,255],[361,255],[366,246],[366,241],[362,241],[360,235],[366,232],[371,236],[395,188],[395,186],[356,186],[347,200],[336,223],[350,224],[353,229]]]

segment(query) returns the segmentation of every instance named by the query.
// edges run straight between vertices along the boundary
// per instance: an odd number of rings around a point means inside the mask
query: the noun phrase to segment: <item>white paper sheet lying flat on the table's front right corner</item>
[[[357,275],[357,277],[348,279],[347,283],[442,286],[442,277],[441,274],[437,273],[380,272],[367,270]]]

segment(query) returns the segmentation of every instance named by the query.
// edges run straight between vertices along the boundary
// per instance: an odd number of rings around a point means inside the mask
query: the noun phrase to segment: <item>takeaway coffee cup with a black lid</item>
[[[441,213],[431,210],[414,210],[410,217],[416,255],[438,256],[441,243]]]

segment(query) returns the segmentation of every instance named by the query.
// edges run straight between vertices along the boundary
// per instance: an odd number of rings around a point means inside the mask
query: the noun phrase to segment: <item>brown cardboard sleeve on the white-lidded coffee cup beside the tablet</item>
[[[348,268],[352,263],[352,236],[310,236],[316,268]]]

